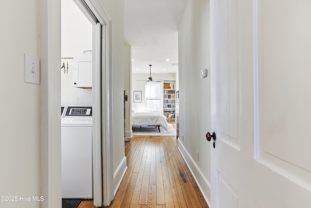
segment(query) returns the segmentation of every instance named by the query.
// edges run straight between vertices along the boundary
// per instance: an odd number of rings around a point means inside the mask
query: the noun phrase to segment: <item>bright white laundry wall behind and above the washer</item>
[[[61,105],[62,106],[92,106],[92,90],[73,86],[73,73],[77,70],[79,60],[91,61],[91,56],[83,54],[86,50],[92,50],[92,24],[86,19],[73,0],[61,0],[62,6],[62,59],[61,64],[67,61],[68,74],[62,76]],[[60,66],[61,66],[60,64]],[[67,72],[67,70],[66,70]]]

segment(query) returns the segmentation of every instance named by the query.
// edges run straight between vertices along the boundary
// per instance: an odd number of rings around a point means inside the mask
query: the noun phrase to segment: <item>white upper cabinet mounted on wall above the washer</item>
[[[78,61],[78,66],[73,70],[73,86],[92,88],[92,61]]]

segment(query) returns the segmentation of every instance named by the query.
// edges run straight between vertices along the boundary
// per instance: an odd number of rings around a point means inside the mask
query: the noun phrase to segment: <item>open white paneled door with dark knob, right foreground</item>
[[[210,6],[211,207],[310,208],[311,1]]]

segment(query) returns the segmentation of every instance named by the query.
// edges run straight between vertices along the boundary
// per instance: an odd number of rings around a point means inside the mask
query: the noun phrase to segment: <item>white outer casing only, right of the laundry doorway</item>
[[[85,0],[89,9],[102,24],[102,160],[103,160],[103,206],[114,198],[112,163],[112,66],[111,18],[100,0]]]

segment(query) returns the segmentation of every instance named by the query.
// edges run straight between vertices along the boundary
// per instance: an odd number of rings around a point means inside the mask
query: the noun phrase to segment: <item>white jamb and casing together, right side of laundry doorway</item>
[[[109,206],[113,200],[112,137],[110,116],[111,65],[110,18],[99,0],[74,0],[93,25],[92,98],[93,98],[93,202]]]

